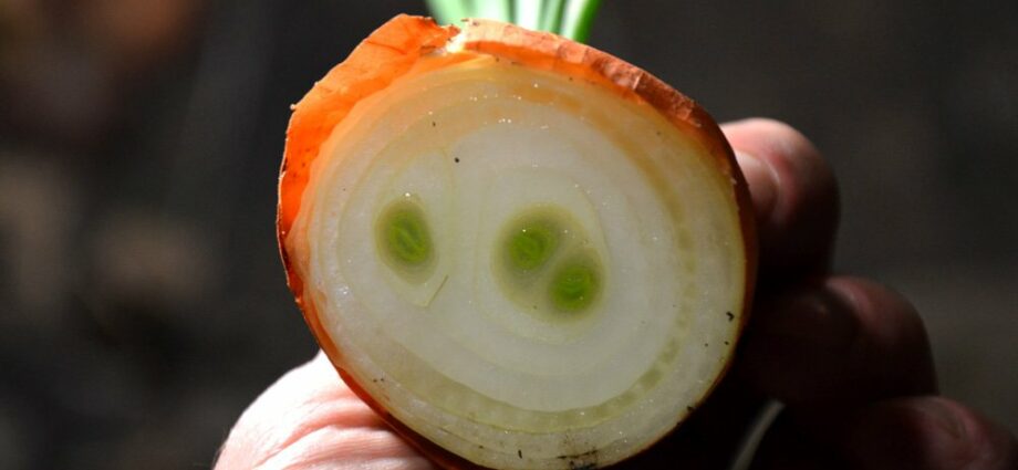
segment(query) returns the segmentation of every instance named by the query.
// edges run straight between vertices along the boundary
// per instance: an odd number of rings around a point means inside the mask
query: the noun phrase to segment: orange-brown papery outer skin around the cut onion
[[[444,48],[448,48],[445,53],[434,54]],[[752,202],[747,184],[720,128],[693,100],[646,71],[565,38],[490,20],[464,20],[464,28],[460,30],[455,25],[439,27],[430,18],[401,14],[372,32],[345,61],[333,67],[297,105],[292,106],[293,114],[287,129],[287,145],[279,178],[277,237],[280,255],[287,271],[287,283],[305,322],[343,380],[389,426],[433,461],[446,468],[461,469],[481,467],[430,442],[399,422],[344,370],[345,361],[342,358],[342,352],[337,351],[335,343],[322,326],[313,301],[305,295],[303,279],[294,269],[292,253],[287,247],[287,237],[300,211],[312,163],[319,156],[322,143],[354,105],[374,93],[384,91],[394,80],[406,75],[411,70],[422,73],[482,56],[506,59],[526,67],[582,80],[600,85],[625,100],[648,105],[710,153],[717,169],[733,181],[731,188],[739,207],[747,289],[742,312],[737,315],[739,333],[749,316],[758,248]],[[427,66],[420,67],[418,61],[425,58]],[[735,344],[731,347],[734,348]],[[729,355],[728,364],[713,386],[725,376],[733,356]],[[702,401],[708,395],[709,391]]]

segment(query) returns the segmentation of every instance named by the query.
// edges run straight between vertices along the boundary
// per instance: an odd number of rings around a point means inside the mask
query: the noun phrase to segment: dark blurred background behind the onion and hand
[[[1018,2],[605,1],[593,45],[842,182],[839,271],[1018,429]],[[0,1],[0,468],[206,468],[315,351],[273,237],[297,102],[414,1]]]

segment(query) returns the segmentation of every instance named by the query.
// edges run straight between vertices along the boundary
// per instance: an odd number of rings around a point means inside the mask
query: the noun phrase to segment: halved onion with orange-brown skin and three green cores
[[[290,289],[343,380],[449,468],[596,468],[724,375],[756,267],[714,121],[506,23],[399,15],[293,107]]]

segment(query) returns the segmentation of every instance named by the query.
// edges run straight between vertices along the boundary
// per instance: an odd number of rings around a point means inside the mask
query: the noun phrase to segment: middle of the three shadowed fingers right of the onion
[[[830,278],[760,305],[739,373],[790,405],[845,405],[936,391],[926,331],[901,295]]]

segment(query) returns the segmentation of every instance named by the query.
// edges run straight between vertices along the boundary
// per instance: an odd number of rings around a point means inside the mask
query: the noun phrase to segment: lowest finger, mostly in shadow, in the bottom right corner
[[[1018,469],[1014,435],[941,397],[902,398],[866,407],[850,424],[843,442],[858,468]]]

